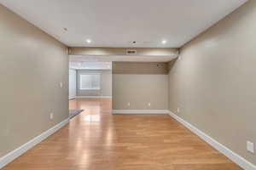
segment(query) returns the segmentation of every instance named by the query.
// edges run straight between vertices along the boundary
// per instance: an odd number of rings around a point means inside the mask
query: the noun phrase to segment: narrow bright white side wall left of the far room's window
[[[69,69],[69,92],[68,99],[74,99],[77,96],[77,71]]]

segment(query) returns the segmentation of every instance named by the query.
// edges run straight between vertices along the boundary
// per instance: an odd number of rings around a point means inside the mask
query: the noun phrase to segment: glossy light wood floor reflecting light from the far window
[[[238,170],[167,115],[111,115],[110,99],[77,99],[79,116],[3,170]]]

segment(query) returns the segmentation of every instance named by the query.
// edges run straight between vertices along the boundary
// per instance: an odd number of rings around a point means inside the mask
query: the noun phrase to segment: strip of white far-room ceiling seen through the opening
[[[75,70],[112,70],[112,62],[69,61],[69,68]]]

